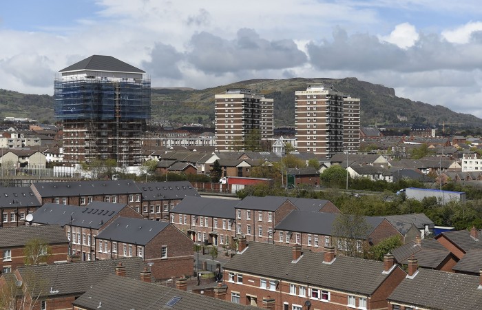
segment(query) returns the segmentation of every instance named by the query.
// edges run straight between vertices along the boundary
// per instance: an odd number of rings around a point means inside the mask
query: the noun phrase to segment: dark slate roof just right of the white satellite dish
[[[32,223],[99,229],[126,206],[100,201],[92,202],[85,207],[45,203],[32,214],[34,216]]]

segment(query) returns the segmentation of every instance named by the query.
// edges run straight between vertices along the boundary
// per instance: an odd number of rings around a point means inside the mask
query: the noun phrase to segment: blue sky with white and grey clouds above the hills
[[[478,0],[1,1],[0,42],[0,88],[27,94],[98,54],[153,87],[356,77],[482,118]]]

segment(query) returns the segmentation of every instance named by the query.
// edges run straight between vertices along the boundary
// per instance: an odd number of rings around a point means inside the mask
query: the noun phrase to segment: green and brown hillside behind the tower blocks
[[[252,92],[275,99],[275,125],[293,126],[295,123],[295,91],[306,90],[308,83],[327,83],[340,92],[361,99],[362,125],[400,123],[397,116],[406,116],[404,123],[461,123],[460,128],[482,127],[482,120],[470,114],[452,112],[441,105],[410,101],[399,98],[395,90],[384,85],[346,79],[285,79],[249,80],[193,90],[188,87],[152,89],[152,121],[171,125],[184,123],[212,124],[214,119],[214,94],[221,94],[227,88],[245,87]],[[39,121],[53,121],[52,96],[30,95],[0,90],[0,117],[30,117]]]

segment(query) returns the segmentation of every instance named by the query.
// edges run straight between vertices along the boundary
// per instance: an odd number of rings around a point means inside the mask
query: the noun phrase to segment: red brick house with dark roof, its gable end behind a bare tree
[[[339,214],[293,210],[275,226],[273,241],[277,245],[301,245],[310,251],[324,251],[326,248],[335,247],[343,252],[333,231],[333,225]],[[368,229],[364,236],[357,239],[357,251],[360,256],[367,247],[376,245],[380,240],[390,236],[401,236],[401,233],[388,220],[378,216],[365,216]],[[349,236],[346,236],[349,238]]]

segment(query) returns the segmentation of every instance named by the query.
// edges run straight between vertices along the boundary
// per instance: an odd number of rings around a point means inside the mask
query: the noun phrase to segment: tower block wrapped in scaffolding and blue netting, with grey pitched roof
[[[63,123],[66,163],[115,159],[120,167],[140,165],[151,81],[112,56],[90,56],[56,76],[54,112]]]

